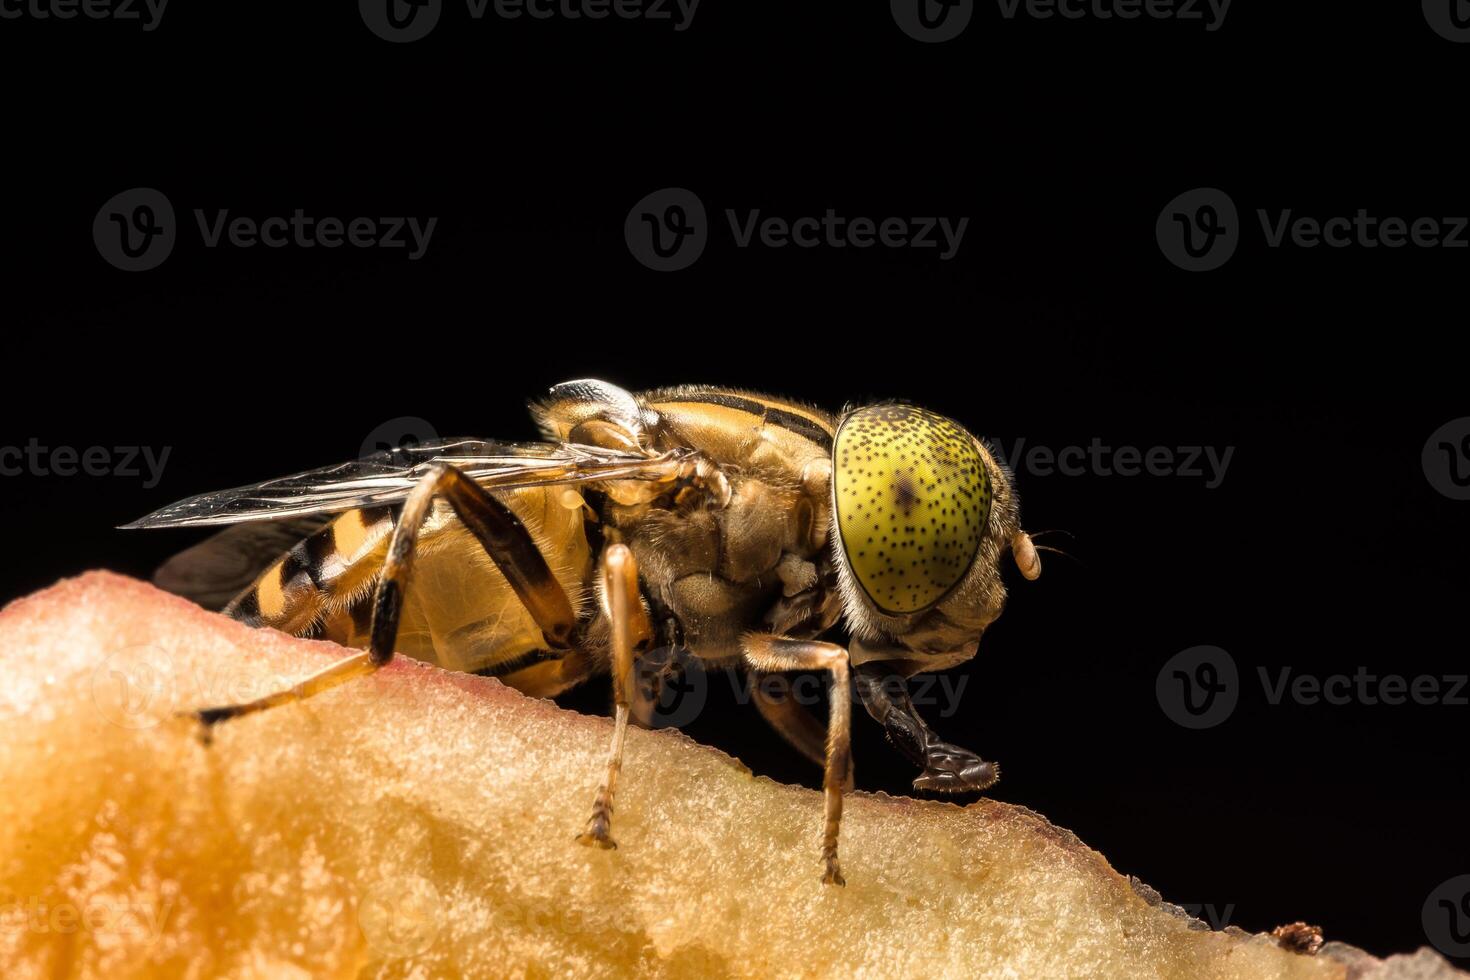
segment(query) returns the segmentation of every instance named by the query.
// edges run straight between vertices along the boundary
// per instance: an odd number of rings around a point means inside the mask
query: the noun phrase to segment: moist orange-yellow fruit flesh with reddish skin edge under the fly
[[[819,793],[629,733],[616,851],[578,846],[610,721],[398,658],[219,729],[341,648],[93,573],[0,614],[0,976],[1342,977],[1198,932],[1019,807]]]

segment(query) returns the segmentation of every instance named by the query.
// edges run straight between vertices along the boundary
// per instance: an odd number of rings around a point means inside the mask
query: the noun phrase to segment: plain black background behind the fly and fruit
[[[903,397],[1010,445],[1233,447],[1223,483],[1022,472],[1032,529],[1066,529],[932,718],[1000,760],[994,796],[1125,874],[1250,930],[1305,918],[1388,954],[1470,871],[1470,707],[1267,701],[1257,669],[1466,671],[1470,504],[1420,451],[1464,403],[1457,250],[1269,248],[1255,209],[1470,212],[1470,47],[1417,4],[1235,4],[1177,21],[1007,21],[979,4],[920,44],[886,4],[706,0],[686,31],[475,22],[413,44],[351,4],[169,9],[160,26],[0,21],[10,194],[0,248],[4,442],[169,447],[160,485],[0,480],[0,594],[196,536],[113,527],[165,502],[356,457],[398,416],[526,438],[528,397],[597,376],[707,382],[838,408]],[[123,273],[91,238],[132,187],[179,244]],[[654,273],[632,204],[695,191],[711,241]],[[1172,266],[1154,222],[1225,190],[1244,241]],[[193,209],[437,216],[428,254],[204,248]],[[970,219],[960,253],[736,248],[744,215]],[[1239,707],[1191,732],[1154,682],[1213,644]],[[573,699],[598,708],[606,685]],[[728,688],[688,727],[817,783]],[[861,789],[910,765],[857,718]],[[679,833],[670,829],[670,833]],[[895,846],[900,846],[895,843]]]

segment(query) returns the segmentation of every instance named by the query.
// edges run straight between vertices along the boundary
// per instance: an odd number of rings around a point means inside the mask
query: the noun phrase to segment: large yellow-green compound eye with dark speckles
[[[858,408],[832,447],[842,551],[883,613],[933,605],[970,570],[991,478],[970,433],[911,406]]]

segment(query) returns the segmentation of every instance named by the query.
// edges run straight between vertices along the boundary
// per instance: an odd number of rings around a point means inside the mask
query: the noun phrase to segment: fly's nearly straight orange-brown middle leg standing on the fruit
[[[616,848],[610,836],[613,793],[623,768],[623,741],[628,738],[628,686],[634,677],[634,652],[653,641],[653,626],[638,594],[638,563],[628,545],[609,545],[603,554],[603,602],[612,626],[613,642],[613,743],[607,752],[607,774],[597,788],[592,817],[579,843]]]

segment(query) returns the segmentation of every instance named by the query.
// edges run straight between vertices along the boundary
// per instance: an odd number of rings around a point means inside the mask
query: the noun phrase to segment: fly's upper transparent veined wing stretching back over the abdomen
[[[667,463],[681,453],[635,455],[591,445],[442,439],[253,486],[200,494],[123,527],[238,525],[395,504],[438,461],[453,463],[476,483],[500,489],[606,479],[667,479]]]

